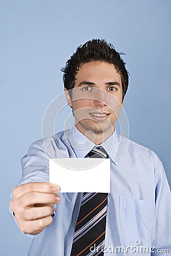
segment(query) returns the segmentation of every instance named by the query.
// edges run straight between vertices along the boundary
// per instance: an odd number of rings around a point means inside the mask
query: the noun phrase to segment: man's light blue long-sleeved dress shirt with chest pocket
[[[171,255],[171,195],[162,163],[130,140],[118,159],[121,139],[115,131],[102,143],[111,162],[104,255]],[[84,158],[94,146],[76,127],[34,142],[18,185],[49,181],[49,158]],[[82,193],[60,196],[52,224],[34,236],[29,256],[70,255]]]

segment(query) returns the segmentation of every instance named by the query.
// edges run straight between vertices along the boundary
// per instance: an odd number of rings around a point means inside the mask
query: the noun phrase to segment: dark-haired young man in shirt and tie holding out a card
[[[31,145],[10,202],[20,230],[36,235],[28,255],[137,255],[140,246],[143,255],[157,250],[161,255],[164,249],[171,253],[171,196],[162,163],[154,152],[130,140],[115,157],[122,141],[115,122],[128,87],[120,53],[105,40],[93,39],[77,48],[62,71],[76,125]],[[49,158],[85,158],[93,151],[110,158],[111,164],[111,191],[103,200],[107,203],[104,241],[96,243],[99,236],[85,246],[91,238],[88,229],[76,246],[76,233],[87,226],[77,230],[83,200],[91,195],[59,196],[60,187],[48,183]],[[78,247],[80,252],[74,254]]]

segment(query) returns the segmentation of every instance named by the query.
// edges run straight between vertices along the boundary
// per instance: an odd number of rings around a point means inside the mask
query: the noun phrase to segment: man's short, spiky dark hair
[[[90,61],[106,61],[107,63],[114,64],[116,71],[121,77],[124,98],[128,89],[128,72],[126,63],[120,57],[123,54],[123,52],[116,52],[114,46],[107,43],[104,39],[92,39],[78,46],[76,52],[66,61],[65,67],[61,68],[61,71],[64,72],[64,87],[67,90],[74,88],[76,74],[82,64],[89,63]]]

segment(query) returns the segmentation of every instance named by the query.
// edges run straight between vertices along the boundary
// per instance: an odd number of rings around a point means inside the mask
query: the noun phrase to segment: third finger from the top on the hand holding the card
[[[39,218],[44,218],[51,216],[55,212],[54,207],[44,206],[44,207],[32,207],[24,209],[22,212],[23,220],[37,220]]]

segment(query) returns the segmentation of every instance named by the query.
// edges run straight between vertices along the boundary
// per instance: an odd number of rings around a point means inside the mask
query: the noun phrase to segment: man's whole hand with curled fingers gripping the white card
[[[59,191],[58,185],[45,182],[28,183],[13,189],[10,208],[22,232],[38,234],[52,223],[54,205],[61,200],[56,194]]]

